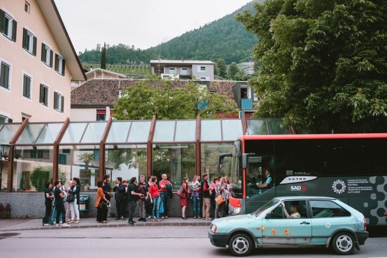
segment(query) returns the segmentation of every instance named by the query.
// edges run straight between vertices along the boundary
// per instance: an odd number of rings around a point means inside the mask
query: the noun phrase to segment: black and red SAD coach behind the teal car
[[[250,213],[274,197],[329,196],[368,225],[387,225],[386,148],[387,134],[241,136],[219,156],[219,169],[232,159],[229,213]]]

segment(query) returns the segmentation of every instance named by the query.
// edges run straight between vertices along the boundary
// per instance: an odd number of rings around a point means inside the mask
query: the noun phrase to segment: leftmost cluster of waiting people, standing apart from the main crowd
[[[79,223],[81,190],[79,178],[74,177],[70,180],[67,188],[62,185],[61,179],[54,180],[53,189],[51,182],[47,182],[45,187],[44,204],[46,211],[43,218],[43,226],[56,224],[56,226],[68,227],[71,223]]]

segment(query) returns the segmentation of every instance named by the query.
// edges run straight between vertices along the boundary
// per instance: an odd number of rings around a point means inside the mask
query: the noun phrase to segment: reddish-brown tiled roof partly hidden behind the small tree
[[[118,91],[127,87],[135,87],[142,79],[93,79],[71,92],[71,105],[98,105],[114,106],[117,102]],[[183,88],[188,83],[186,80],[173,81],[172,90]],[[235,101],[233,86],[234,81],[211,81],[209,90],[220,94],[226,94],[229,99]],[[160,87],[161,81],[149,81],[149,85]],[[235,102],[236,104],[236,102]]]

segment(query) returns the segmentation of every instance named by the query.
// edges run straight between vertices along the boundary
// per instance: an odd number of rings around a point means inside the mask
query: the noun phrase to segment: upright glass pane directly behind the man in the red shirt
[[[177,190],[184,177],[192,181],[195,175],[195,144],[186,145],[153,145],[152,175],[161,180],[162,174],[172,183],[172,188]]]

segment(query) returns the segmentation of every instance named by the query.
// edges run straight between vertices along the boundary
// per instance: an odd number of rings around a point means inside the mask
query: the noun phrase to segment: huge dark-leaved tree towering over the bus
[[[255,115],[283,117],[299,132],[385,132],[386,4],[278,0],[237,14],[261,36]]]

